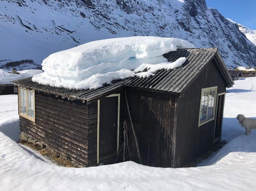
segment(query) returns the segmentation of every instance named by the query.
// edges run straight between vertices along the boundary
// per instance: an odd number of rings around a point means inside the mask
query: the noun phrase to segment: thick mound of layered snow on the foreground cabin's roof
[[[39,84],[70,89],[99,88],[115,79],[133,77],[136,72],[151,68],[139,75],[147,77],[158,69],[174,69],[186,60],[166,63],[162,56],[177,48],[193,48],[178,38],[126,37],[93,41],[48,56],[42,63],[45,71],[32,78]],[[182,62],[181,62],[182,61]],[[173,67],[175,65],[175,67]],[[162,66],[162,67],[159,67]],[[135,70],[135,71],[133,71]]]

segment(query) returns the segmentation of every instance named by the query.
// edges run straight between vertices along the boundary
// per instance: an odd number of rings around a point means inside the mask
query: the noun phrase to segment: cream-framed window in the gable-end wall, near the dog
[[[216,96],[217,86],[210,88],[202,88],[198,126],[201,126],[211,120],[214,120]]]

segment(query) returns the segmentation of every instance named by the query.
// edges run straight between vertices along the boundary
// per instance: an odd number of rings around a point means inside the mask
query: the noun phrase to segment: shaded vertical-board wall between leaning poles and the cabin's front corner
[[[172,144],[177,95],[127,88],[133,125],[138,138],[142,164],[172,167]],[[129,145],[132,157],[139,162],[135,140],[129,124]]]

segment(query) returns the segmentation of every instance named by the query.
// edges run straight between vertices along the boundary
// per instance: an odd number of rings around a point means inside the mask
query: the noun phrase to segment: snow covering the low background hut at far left
[[[23,70],[18,71],[19,74],[9,73],[9,71],[0,69],[0,84],[12,84],[11,81],[32,77],[42,73],[42,70]]]

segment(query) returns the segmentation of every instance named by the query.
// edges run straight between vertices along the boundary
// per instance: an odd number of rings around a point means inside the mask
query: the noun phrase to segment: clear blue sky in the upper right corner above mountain
[[[256,30],[256,0],[206,0],[226,18]]]

